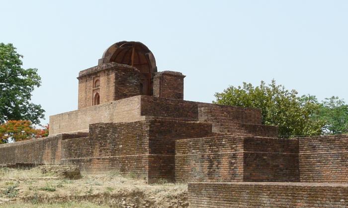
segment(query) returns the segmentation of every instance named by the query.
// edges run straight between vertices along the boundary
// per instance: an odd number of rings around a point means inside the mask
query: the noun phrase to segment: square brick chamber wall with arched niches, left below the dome
[[[141,95],[139,70],[115,62],[101,64],[79,73],[79,109],[92,105],[94,77],[100,80],[100,104]]]

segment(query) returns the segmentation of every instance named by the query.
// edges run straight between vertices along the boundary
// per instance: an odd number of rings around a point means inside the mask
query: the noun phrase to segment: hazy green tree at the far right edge
[[[318,117],[326,121],[325,134],[348,133],[348,105],[338,97],[325,99]]]

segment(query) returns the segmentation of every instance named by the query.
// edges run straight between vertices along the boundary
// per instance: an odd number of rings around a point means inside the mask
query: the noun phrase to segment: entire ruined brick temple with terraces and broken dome
[[[140,42],[80,71],[78,109],[46,138],[0,145],[0,164],[69,163],[188,183],[190,207],[346,207],[348,135],[280,139],[260,109],[185,101]]]

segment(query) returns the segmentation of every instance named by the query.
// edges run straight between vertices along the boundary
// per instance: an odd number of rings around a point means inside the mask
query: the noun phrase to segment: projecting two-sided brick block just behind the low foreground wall
[[[176,182],[299,182],[298,142],[215,136],[175,142]]]

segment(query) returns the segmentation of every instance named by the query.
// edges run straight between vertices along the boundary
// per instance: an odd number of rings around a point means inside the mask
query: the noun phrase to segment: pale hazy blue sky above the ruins
[[[0,21],[0,42],[39,70],[32,101],[43,123],[77,109],[79,71],[121,40],[147,45],[159,71],[186,75],[185,100],[275,79],[348,101],[348,0],[0,0]]]

